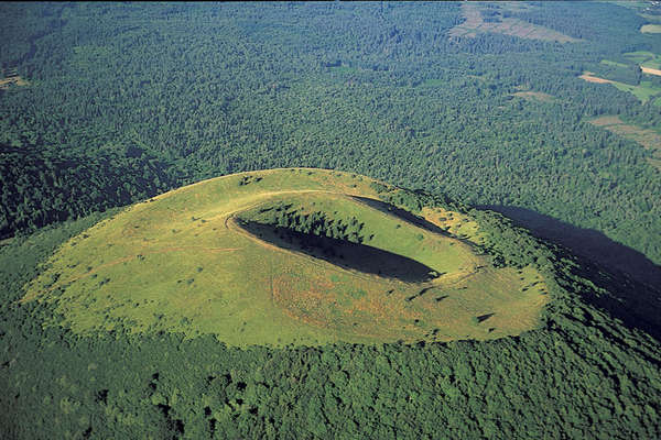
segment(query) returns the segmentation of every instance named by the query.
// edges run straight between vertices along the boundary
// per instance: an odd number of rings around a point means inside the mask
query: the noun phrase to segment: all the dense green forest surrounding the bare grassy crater
[[[579,76],[661,86],[625,55],[661,55],[661,38],[633,6],[489,7],[491,24],[572,42],[452,36],[459,2],[0,3],[0,74],[25,80],[0,88],[0,437],[659,438],[661,170],[590,120],[661,132],[661,94]],[[557,279],[542,328],[238,349],[80,337],[18,302],[59,244],[121,207],[289,166],[369,175],[415,189],[392,199],[413,213],[477,219],[495,264]],[[617,252],[476,207],[535,212]],[[650,270],[627,272],[633,254]]]

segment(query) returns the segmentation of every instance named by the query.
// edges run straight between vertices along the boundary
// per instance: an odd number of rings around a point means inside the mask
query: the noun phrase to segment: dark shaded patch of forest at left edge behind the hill
[[[136,151],[86,155],[0,144],[0,238],[171,188],[175,179],[163,164]]]

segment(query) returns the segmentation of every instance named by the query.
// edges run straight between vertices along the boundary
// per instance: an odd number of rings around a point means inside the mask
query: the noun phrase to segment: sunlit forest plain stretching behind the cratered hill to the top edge
[[[463,21],[458,3],[0,8],[11,18],[2,63],[33,81],[0,91],[0,143],[34,145],[29,162],[46,146],[83,162],[100,156],[102,169],[89,173],[109,178],[75,182],[119,189],[108,206],[227,173],[317,166],[525,207],[661,261],[649,153],[585,122],[619,114],[660,127],[659,107],[576,78],[626,52],[661,53],[632,10],[541,2],[508,12],[584,38],[556,44],[448,38]],[[512,97],[520,87],[556,99]],[[106,162],[117,145],[128,157]],[[50,201],[32,199],[4,213],[6,233],[102,208],[69,197],[44,220]]]

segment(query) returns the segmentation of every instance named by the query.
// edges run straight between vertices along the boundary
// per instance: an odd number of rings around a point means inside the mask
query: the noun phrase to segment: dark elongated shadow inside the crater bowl
[[[427,282],[436,276],[433,268],[415,260],[366,244],[307,234],[253,221],[239,220],[237,224],[279,248],[302,252],[344,268],[407,283]]]

